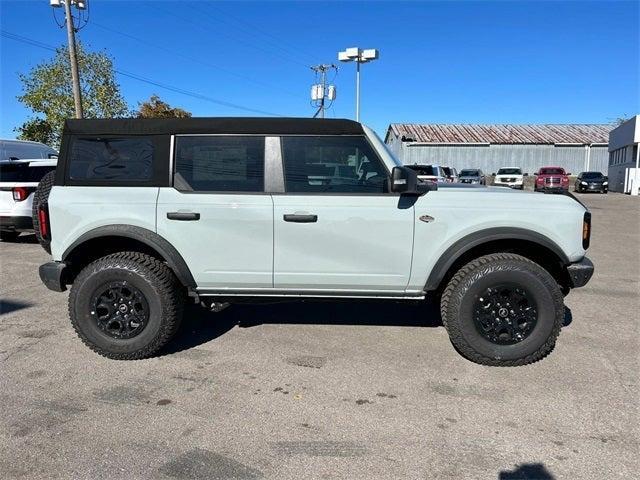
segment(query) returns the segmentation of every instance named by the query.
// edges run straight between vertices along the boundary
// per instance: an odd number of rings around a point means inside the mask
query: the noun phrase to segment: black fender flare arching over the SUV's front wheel
[[[571,263],[558,244],[541,233],[517,227],[486,228],[462,237],[444,251],[429,274],[425,291],[437,290],[451,266],[466,252],[483,243],[496,240],[526,240],[537,243],[551,250],[564,265]]]

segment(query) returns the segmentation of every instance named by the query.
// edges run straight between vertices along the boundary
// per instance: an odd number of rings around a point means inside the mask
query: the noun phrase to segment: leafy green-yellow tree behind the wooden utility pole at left
[[[114,118],[128,114],[128,106],[115,79],[113,60],[105,52],[88,52],[76,47],[82,108],[86,118]],[[64,120],[75,114],[71,89],[71,65],[66,46],[54,57],[20,75],[22,95],[18,100],[36,114],[16,130],[20,138],[59,145]]]

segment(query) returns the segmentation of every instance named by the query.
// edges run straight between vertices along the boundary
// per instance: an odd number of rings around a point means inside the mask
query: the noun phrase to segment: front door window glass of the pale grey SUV
[[[293,193],[385,193],[389,173],[363,136],[282,137],[285,188]]]

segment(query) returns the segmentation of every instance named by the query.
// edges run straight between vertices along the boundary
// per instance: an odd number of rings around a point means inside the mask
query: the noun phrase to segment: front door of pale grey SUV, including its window
[[[328,294],[403,292],[414,209],[388,193],[364,136],[281,137],[285,193],[274,194],[274,287]]]

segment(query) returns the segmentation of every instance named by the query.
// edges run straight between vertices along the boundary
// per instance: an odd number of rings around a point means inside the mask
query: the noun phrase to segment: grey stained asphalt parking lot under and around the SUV
[[[596,274],[517,368],[462,358],[429,305],[381,302],[189,308],[162,356],[107,360],[33,236],[0,244],[0,476],[637,478],[640,202],[579,197]]]

